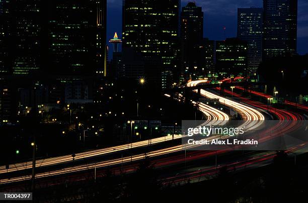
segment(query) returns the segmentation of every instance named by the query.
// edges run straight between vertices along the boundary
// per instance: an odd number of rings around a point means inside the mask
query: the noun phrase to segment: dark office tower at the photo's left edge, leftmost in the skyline
[[[0,73],[25,75],[40,68],[41,1],[0,1]]]

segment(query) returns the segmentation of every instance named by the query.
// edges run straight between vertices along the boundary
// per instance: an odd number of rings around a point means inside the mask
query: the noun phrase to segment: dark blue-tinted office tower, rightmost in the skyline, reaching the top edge
[[[263,59],[296,54],[297,0],[263,0]]]

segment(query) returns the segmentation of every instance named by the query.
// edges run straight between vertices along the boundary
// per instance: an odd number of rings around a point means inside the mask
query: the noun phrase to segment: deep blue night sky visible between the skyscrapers
[[[164,2],[162,0],[162,2]],[[186,6],[188,0],[181,2]],[[262,0],[196,0],[196,5],[202,7],[204,12],[204,37],[210,40],[223,40],[222,28],[226,27],[226,37],[237,35],[238,8],[262,8]],[[107,0],[107,41],[113,37],[114,32],[121,36],[122,0]],[[298,0],[298,30],[297,52],[308,53],[308,1]],[[108,43],[112,50],[112,45]],[[109,58],[112,57],[109,53]]]

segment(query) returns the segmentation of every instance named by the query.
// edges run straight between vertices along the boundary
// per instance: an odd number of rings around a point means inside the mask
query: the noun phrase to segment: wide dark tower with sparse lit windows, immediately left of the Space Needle
[[[49,0],[47,32],[51,72],[106,75],[106,0]]]

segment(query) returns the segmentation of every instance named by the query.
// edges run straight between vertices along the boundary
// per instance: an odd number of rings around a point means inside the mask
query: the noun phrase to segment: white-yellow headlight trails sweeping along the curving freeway
[[[204,82],[204,81],[195,81],[195,82],[189,83],[188,85],[196,85],[196,84],[201,83],[201,82]],[[227,106],[235,107],[235,108],[238,109],[238,111],[241,111],[243,114],[245,114],[247,116],[246,117],[246,119],[248,120],[247,122],[249,122],[249,123],[245,124],[247,129],[249,129],[249,128],[253,129],[253,128],[258,127],[258,124],[254,123],[252,121],[260,121],[260,120],[263,121],[264,120],[264,116],[260,112],[258,112],[257,110],[254,110],[254,109],[247,107],[245,105],[236,103],[236,102],[231,101],[229,99],[225,99],[223,97],[212,94],[210,92],[206,92],[204,90],[201,93],[203,95],[206,94],[206,95],[210,95],[211,97],[214,97],[214,98],[219,98],[219,101],[221,103],[222,103],[222,100],[223,100],[223,103],[225,103]],[[215,110],[214,108],[207,106],[205,104],[201,103],[199,105],[199,108],[203,112],[208,113],[208,115],[213,116],[213,119],[215,119],[215,120],[217,119],[217,121],[221,121],[221,120],[223,121],[225,119],[228,119],[228,116],[226,114],[224,114],[224,113],[222,113],[218,110]],[[207,122],[211,122],[211,121],[208,120]],[[179,136],[179,138],[180,137],[181,136]],[[215,138],[215,136],[210,137],[208,139],[211,140],[211,139],[214,139],[214,138]],[[165,139],[165,138],[163,137],[163,138],[157,138],[157,139],[158,139],[157,142],[160,142],[160,141],[163,141],[163,139]],[[142,143],[142,142],[145,142],[145,143]],[[138,142],[137,144],[134,143],[134,147],[140,147],[140,145],[142,146],[142,144],[147,145],[148,141],[141,141],[141,142]],[[124,149],[126,149],[126,147],[128,148],[128,145],[121,145],[119,148],[116,148],[116,150],[118,150],[118,151],[124,150]],[[191,147],[191,146],[187,146],[187,147]],[[100,163],[96,164],[96,167],[104,167],[104,166],[115,165],[115,164],[119,164],[119,163],[123,163],[123,162],[136,161],[136,160],[143,159],[146,156],[151,157],[151,156],[165,155],[165,154],[181,151],[182,149],[183,149],[183,146],[179,145],[179,146],[176,146],[176,147],[171,147],[171,148],[162,149],[162,150],[158,150],[158,151],[154,151],[154,152],[149,152],[147,155],[141,154],[141,155],[135,155],[135,156],[132,156],[132,157],[126,157],[126,158],[123,158],[123,159],[114,159],[114,160],[110,160],[110,161],[100,162]],[[91,157],[91,156],[97,156],[98,154],[101,155],[101,154],[104,154],[104,153],[111,153],[111,152],[114,152],[114,150],[115,150],[115,148],[113,147],[113,148],[103,149],[103,151],[102,150],[95,150],[95,151],[91,151],[91,152],[85,152],[86,154],[85,153],[78,154],[79,156],[76,156],[75,159],[76,158],[82,159],[82,158],[87,158],[87,157]],[[67,155],[67,156],[64,156],[64,157],[50,158],[48,160],[48,162],[44,163],[44,161],[43,161],[42,163],[40,163],[40,166],[67,162],[68,161],[67,159],[71,160],[71,156]],[[23,165],[21,167],[25,168],[25,166],[23,166]],[[59,174],[63,174],[63,173],[70,173],[70,172],[76,172],[76,171],[81,171],[81,170],[88,170],[90,168],[93,168],[93,165],[84,164],[84,165],[81,165],[81,166],[68,167],[68,168],[61,169],[61,170],[54,170],[54,171],[39,173],[39,174],[36,175],[36,177],[39,178],[39,177],[46,177],[46,176],[51,176],[51,175],[59,175]],[[22,177],[14,177],[14,178],[10,178],[10,179],[2,179],[2,180],[0,180],[0,183],[3,184],[3,183],[14,182],[14,181],[21,181],[21,180],[25,180],[25,179],[29,179],[29,178],[30,178],[30,176],[28,175],[28,176],[22,176]]]

